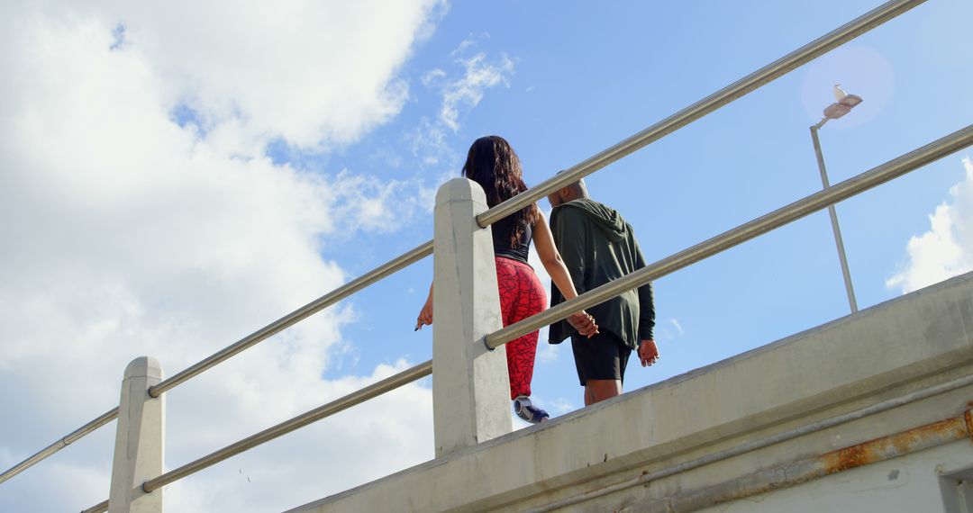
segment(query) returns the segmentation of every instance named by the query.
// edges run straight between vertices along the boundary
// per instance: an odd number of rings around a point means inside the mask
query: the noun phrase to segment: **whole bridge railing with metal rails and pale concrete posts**
[[[570,313],[589,308],[625,291],[638,288],[708,256],[726,251],[742,242],[793,222],[869,188],[875,188],[905,173],[973,145],[973,125],[962,128],[909,154],[890,160],[861,175],[825,188],[751,222],[706,240],[675,255],[667,256],[630,275],[587,291],[554,308],[514,325],[500,327],[499,304],[492,245],[486,228],[549,193],[572,184],[608,164],[665,137],[682,126],[719,109],[744,94],[766,85],[789,71],[811,61],[851,39],[897,17],[924,0],[894,0],[792,51],[763,68],[728,85],[665,120],[632,135],[615,146],[568,168],[557,176],[507,200],[486,208],[483,190],[472,182],[454,179],[437,194],[434,241],[426,242],[404,255],[378,266],[371,272],[331,291],[287,314],[227,348],[198,361],[170,378],[162,379],[161,369],[153,377],[151,359],[136,359],[126,369],[120,407],[92,420],[82,428],[57,440],[51,446],[0,474],[0,483],[26,468],[50,457],[93,430],[121,417],[113,465],[112,493],[85,510],[128,511],[138,502],[155,504],[161,510],[162,487],[199,470],[222,462],[273,438],[305,427],[344,409],[387,393],[436,369],[433,380],[436,455],[451,452],[510,432],[512,429],[508,381],[503,344],[525,333],[566,318]],[[295,325],[342,299],[361,291],[419,259],[433,254],[434,311],[433,359],[345,395],[304,414],[235,442],[228,447],[162,473],[164,408],[162,393],[168,392],[209,368],[233,358],[246,349]],[[497,350],[497,351],[494,351]],[[148,370],[136,376],[133,367],[141,361]],[[144,370],[144,369],[143,369]],[[140,377],[139,377],[140,376]],[[141,381],[139,381],[141,380]],[[136,388],[131,389],[133,385]],[[140,385],[139,385],[140,384]],[[137,387],[144,386],[145,393]],[[128,389],[126,389],[128,387]],[[129,393],[126,399],[126,390]],[[131,390],[135,390],[132,393]],[[137,399],[137,400],[136,400]],[[153,404],[153,401],[156,401]],[[447,402],[449,401],[449,402]],[[458,405],[457,405],[458,401]],[[444,405],[450,404],[450,407]],[[153,409],[155,408],[155,409]],[[154,413],[155,412],[155,413]],[[141,422],[151,419],[151,422]],[[122,452],[120,452],[122,451]],[[127,452],[124,452],[127,451]],[[116,481],[119,485],[116,487]],[[116,492],[118,488],[119,492]],[[148,502],[145,502],[148,501]]]

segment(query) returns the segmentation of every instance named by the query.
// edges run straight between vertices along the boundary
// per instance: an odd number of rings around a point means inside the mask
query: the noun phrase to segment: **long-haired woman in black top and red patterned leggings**
[[[502,137],[490,135],[477,139],[466,155],[463,176],[480,184],[486,192],[486,204],[498,205],[523,192],[521,160],[510,143]],[[571,276],[554,245],[551,229],[537,205],[531,204],[510,216],[493,223],[493,253],[496,260],[496,279],[500,291],[500,312],[503,325],[512,325],[547,308],[547,294],[533,268],[527,265],[530,241],[551,280],[571,299],[578,295]],[[432,287],[419,312],[416,325],[432,324]],[[572,314],[568,322],[588,337],[597,333],[594,319],[586,312]],[[534,373],[538,332],[534,331],[507,343],[507,370],[510,374],[510,398],[514,411],[529,423],[548,418],[546,411],[530,403],[530,380]]]

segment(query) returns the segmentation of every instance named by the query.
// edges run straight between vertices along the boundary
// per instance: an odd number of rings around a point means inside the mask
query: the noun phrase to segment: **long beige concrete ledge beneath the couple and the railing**
[[[968,373],[970,365],[973,273],[292,511],[381,511],[390,504],[411,511],[533,507],[606,486],[623,474],[628,479],[632,469],[688,460],[946,381]],[[875,426],[888,430],[911,419],[935,420],[938,413],[897,415],[888,417],[894,422],[851,431],[844,441],[874,436]],[[753,464],[800,450],[754,455]],[[740,471],[726,468],[700,479]]]

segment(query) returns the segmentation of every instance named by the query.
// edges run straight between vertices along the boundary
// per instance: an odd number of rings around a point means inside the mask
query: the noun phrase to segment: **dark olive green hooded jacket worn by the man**
[[[645,266],[631,225],[616,210],[597,201],[583,198],[555,207],[551,212],[551,233],[578,294]],[[563,301],[558,288],[551,284],[551,306]],[[589,308],[588,313],[595,318],[599,331],[611,332],[631,349],[637,349],[640,340],[654,339],[652,284]],[[576,332],[561,321],[551,325],[548,341],[559,344]]]

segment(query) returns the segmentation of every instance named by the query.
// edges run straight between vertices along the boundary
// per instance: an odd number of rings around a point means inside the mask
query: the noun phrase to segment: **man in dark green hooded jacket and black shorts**
[[[551,232],[578,294],[645,266],[631,225],[614,209],[592,200],[583,180],[552,192],[548,201],[554,208]],[[552,287],[551,306],[563,300]],[[564,321],[551,325],[548,337],[552,344],[571,337],[586,406],[622,393],[625,367],[633,350],[643,367],[659,359],[652,334],[656,324],[652,284],[627,291],[588,312],[598,325],[599,333],[594,337],[580,336]]]

